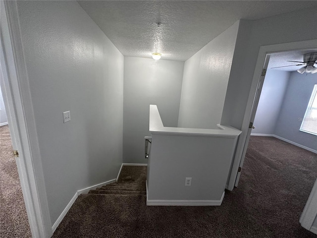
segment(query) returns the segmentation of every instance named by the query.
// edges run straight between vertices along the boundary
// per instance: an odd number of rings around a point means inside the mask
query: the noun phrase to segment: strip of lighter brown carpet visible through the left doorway
[[[9,127],[0,127],[0,238],[31,238]]]

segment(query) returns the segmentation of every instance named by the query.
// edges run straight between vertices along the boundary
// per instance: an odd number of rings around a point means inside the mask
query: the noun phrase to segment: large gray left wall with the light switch
[[[18,1],[18,11],[54,223],[77,190],[117,176],[123,56],[76,1]]]

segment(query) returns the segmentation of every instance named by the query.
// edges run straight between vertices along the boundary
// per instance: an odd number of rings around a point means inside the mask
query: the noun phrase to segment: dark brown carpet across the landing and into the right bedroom
[[[124,178],[138,180],[129,170]],[[316,154],[252,137],[239,187],[221,206],[154,207],[145,195],[82,194],[53,238],[316,238],[299,224],[316,177]]]

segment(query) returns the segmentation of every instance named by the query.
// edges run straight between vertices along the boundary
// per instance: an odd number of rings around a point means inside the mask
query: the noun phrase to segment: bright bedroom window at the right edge
[[[315,84],[311,99],[309,100],[306,113],[300,131],[317,135],[317,84]]]

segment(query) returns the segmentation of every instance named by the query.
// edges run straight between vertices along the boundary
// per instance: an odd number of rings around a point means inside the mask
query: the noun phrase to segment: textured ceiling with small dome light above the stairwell
[[[239,19],[261,19],[317,1],[78,1],[124,56],[185,61]],[[156,22],[161,22],[158,27]]]

